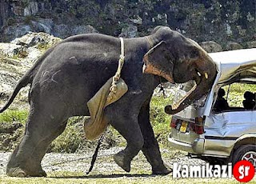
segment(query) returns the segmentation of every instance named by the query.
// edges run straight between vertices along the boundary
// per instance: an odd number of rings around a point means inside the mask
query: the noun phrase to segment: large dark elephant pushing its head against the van
[[[0,110],[6,110],[18,91],[30,84],[26,131],[10,155],[6,174],[46,176],[41,161],[47,147],[65,130],[68,118],[90,116],[86,102],[114,76],[120,46],[119,38],[105,34],[71,36],[47,50],[22,76]],[[128,91],[104,109],[109,124],[126,139],[126,148],[114,155],[114,161],[129,172],[130,162],[142,150],[152,174],[169,174],[150,125],[154,89],[160,82],[194,80],[195,90],[178,106],[166,106],[169,114],[178,113],[210,90],[216,66],[196,42],[168,26],[157,26],[145,37],[124,38],[124,46],[121,77]]]

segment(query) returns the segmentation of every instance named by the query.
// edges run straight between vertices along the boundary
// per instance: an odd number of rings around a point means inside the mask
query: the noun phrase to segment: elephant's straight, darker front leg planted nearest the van
[[[144,138],[142,152],[152,166],[152,174],[170,174],[171,170],[168,170],[162,161],[158,142],[150,125],[150,101],[142,106],[138,122]]]

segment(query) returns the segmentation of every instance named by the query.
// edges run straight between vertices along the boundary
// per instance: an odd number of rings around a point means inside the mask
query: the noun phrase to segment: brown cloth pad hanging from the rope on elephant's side
[[[116,83],[116,90],[113,92],[110,90],[113,77],[110,78],[100,90],[94,95],[90,101],[87,102],[87,106],[90,111],[90,118],[84,118],[84,130],[86,138],[94,140],[98,138],[108,126],[108,122],[105,117],[104,108],[111,103],[118,101],[126,94],[128,87],[126,82],[119,78]]]

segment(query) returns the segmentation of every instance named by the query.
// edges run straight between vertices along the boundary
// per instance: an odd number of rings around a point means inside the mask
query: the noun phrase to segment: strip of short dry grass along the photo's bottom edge
[[[116,172],[114,172],[116,173]],[[47,178],[10,178],[0,177],[1,183],[239,183],[234,178],[172,178],[171,175],[152,176],[147,174],[90,174],[78,172],[52,172]],[[255,183],[254,181],[248,182]]]

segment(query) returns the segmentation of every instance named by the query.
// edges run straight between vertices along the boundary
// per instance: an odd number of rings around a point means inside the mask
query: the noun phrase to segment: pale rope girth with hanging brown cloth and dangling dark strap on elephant
[[[94,140],[98,138],[103,132],[105,132],[109,123],[106,120],[104,109],[106,106],[109,106],[111,103],[118,101],[119,98],[122,98],[126,94],[128,87],[126,82],[121,78],[122,66],[125,62],[125,47],[123,38],[120,38],[121,41],[121,54],[118,60],[118,70],[114,74],[114,77],[110,78],[104,86],[94,95],[93,98],[87,102],[87,106],[90,111],[90,119],[84,120],[84,130],[86,138]],[[100,148],[104,134],[98,141],[98,146],[94,151],[92,161],[90,163],[90,169],[86,174],[89,174],[94,167],[94,163],[97,158],[98,150]]]

